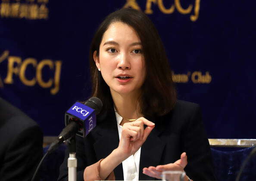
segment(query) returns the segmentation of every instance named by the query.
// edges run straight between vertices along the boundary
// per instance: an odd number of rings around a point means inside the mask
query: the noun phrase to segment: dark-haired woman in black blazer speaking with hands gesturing
[[[103,110],[86,138],[76,137],[78,180],[155,180],[185,171],[185,180],[215,180],[200,107],[177,100],[172,72],[150,19],[112,12],[90,48],[92,96]],[[67,180],[67,158],[59,180]]]

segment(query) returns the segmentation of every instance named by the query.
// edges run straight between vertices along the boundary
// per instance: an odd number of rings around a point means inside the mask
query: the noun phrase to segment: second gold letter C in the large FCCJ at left
[[[52,86],[53,84],[53,79],[50,78],[48,82],[45,82],[42,78],[42,69],[44,66],[49,66],[50,69],[53,69],[53,61],[49,60],[49,59],[44,59],[42,60],[40,63],[38,63],[37,66],[37,73],[36,73],[36,78],[37,78],[37,82],[38,84],[43,87],[43,88],[49,88]]]

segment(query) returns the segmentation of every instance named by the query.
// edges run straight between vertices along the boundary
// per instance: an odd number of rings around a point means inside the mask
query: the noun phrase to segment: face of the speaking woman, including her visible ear
[[[94,61],[111,93],[139,93],[146,70],[140,38],[129,25],[114,22],[103,34]]]

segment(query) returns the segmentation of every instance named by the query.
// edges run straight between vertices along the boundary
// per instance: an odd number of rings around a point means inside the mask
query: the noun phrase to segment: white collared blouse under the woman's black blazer
[[[119,140],[122,135],[122,117],[116,112],[116,122],[118,127]],[[141,149],[141,147],[140,147]],[[124,180],[125,181],[138,181],[139,180],[139,168],[140,168],[140,149],[134,154],[125,159],[122,162]]]

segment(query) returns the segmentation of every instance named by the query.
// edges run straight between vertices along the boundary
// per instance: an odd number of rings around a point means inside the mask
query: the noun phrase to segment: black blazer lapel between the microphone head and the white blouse
[[[106,158],[119,145],[119,134],[116,123],[115,112],[109,114],[99,120],[97,125],[97,140],[94,143],[94,150],[96,152],[97,160]],[[124,180],[122,163],[114,169],[116,180]]]

